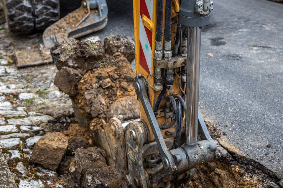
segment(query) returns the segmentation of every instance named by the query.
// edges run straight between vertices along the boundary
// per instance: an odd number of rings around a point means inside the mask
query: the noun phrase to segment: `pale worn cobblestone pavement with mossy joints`
[[[15,45],[21,37],[24,42]],[[54,130],[49,122],[57,118],[64,126],[70,121],[64,115],[73,113],[71,100],[53,84],[55,65],[18,69],[13,61],[15,49],[34,46],[39,40],[38,34],[17,36],[6,29],[0,31],[0,148],[19,188],[63,187],[49,181],[48,177],[57,177],[56,172],[28,164],[34,144]],[[46,180],[40,180],[41,176]]]

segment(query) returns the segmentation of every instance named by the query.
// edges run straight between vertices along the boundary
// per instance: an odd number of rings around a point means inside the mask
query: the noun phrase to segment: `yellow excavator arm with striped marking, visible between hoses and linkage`
[[[145,78],[148,74],[154,74],[154,65],[153,65],[153,57],[155,50],[155,29],[156,29],[156,9],[157,9],[157,0],[134,0],[134,31],[135,31],[135,49],[136,49],[136,74],[141,74]],[[179,1],[173,0],[172,2],[172,21],[177,20],[178,12],[180,10]],[[164,11],[165,12],[165,1],[164,1]],[[163,14],[163,20],[165,20],[165,14]],[[165,22],[163,21],[163,31],[165,27]],[[171,48],[175,45],[174,37],[176,36],[177,23],[172,24],[171,29]],[[162,32],[164,33],[164,32]],[[163,34],[162,34],[163,38]],[[162,40],[163,46],[163,40]],[[154,77],[148,77],[149,84],[154,85]],[[179,78],[175,75],[174,85],[170,90],[167,90],[165,96],[169,93],[182,95],[179,86],[178,86]],[[149,102],[153,108],[154,101],[157,99],[160,92],[154,91],[153,88],[148,87],[149,90]],[[160,106],[165,106],[165,101],[162,100]],[[141,107],[141,119],[144,120],[148,124],[147,116],[144,112],[142,105]],[[162,125],[165,122],[164,114],[158,111],[157,122]],[[170,122],[170,120],[168,121]],[[149,125],[149,124],[148,124]],[[152,130],[149,126],[150,136],[149,142],[154,142],[155,138],[152,134]],[[164,138],[172,137],[173,134],[165,134],[165,132],[174,132],[175,125],[167,130],[161,130]]]

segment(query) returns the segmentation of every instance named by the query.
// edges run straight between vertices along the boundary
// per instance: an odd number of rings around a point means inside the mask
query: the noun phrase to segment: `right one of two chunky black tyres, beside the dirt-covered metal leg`
[[[60,18],[59,0],[31,0],[34,8],[34,28],[45,29]]]

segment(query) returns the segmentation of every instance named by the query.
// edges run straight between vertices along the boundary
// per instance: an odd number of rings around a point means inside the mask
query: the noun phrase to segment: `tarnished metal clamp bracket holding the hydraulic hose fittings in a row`
[[[183,56],[172,57],[171,60],[156,60],[153,58],[153,65],[155,68],[165,68],[167,70],[173,70],[174,68],[182,67],[187,65],[187,59]]]

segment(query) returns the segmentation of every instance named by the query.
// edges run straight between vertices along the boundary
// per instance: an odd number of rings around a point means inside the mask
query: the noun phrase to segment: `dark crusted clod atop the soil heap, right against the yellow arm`
[[[130,36],[108,36],[104,39],[104,48],[109,55],[121,53],[130,63],[135,59],[135,41]]]

